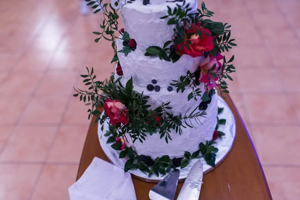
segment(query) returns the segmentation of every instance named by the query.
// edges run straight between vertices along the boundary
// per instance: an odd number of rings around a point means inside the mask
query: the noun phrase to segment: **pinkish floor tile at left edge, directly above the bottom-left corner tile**
[[[44,161],[56,129],[55,126],[16,127],[0,154],[0,160]]]

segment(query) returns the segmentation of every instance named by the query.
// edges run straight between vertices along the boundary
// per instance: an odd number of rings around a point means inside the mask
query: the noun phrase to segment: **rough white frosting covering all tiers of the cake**
[[[187,3],[195,10],[196,0],[186,0]],[[150,0],[151,2],[151,0]],[[158,2],[158,1],[157,1]],[[167,18],[160,19],[161,16],[167,14],[167,5],[173,8],[176,3],[182,2],[162,2],[160,4],[151,3],[143,5],[142,0],[135,0],[132,3],[127,3],[120,9],[123,16],[124,29],[129,33],[130,38],[134,38],[137,43],[135,51],[131,51],[127,56],[124,53],[118,52],[118,58],[122,67],[123,75],[121,83],[124,85],[132,76],[133,89],[139,93],[150,96],[148,104],[149,109],[153,109],[162,104],[162,102],[170,102],[172,107],[171,112],[175,115],[184,113],[190,108],[190,111],[199,105],[200,97],[197,100],[190,99],[187,101],[187,96],[191,89],[186,87],[184,92],[176,92],[173,87],[172,91],[167,90],[172,80],[179,80],[181,75],[186,75],[186,71],[195,71],[199,66],[202,57],[192,58],[189,55],[182,55],[178,61],[172,63],[159,59],[158,56],[145,56],[145,49],[150,45],[161,46],[167,40],[172,39],[173,27],[167,25]],[[116,41],[117,50],[122,49],[122,40]],[[118,75],[116,75],[116,78]],[[160,91],[148,91],[147,84],[152,84],[151,80],[157,80],[155,85],[160,86]],[[204,84],[198,85],[203,93]],[[211,140],[212,134],[216,125],[217,115],[217,95],[213,95],[211,103],[206,109],[206,117],[199,117],[202,124],[197,124],[192,120],[195,128],[183,128],[182,134],[172,130],[170,135],[172,140],[165,142],[164,137],[160,139],[158,133],[148,135],[146,140],[141,143],[136,140],[134,144],[130,140],[130,136],[126,137],[129,140],[127,145],[131,145],[138,154],[149,155],[152,158],[157,156],[169,155],[170,157],[178,157],[184,154],[184,151],[194,152],[198,149],[200,142]],[[189,113],[189,112],[188,112]],[[188,114],[187,113],[187,114]],[[184,122],[182,122],[184,124]]]

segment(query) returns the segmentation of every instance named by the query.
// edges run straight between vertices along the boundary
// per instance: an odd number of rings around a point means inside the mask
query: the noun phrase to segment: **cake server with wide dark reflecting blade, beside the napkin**
[[[170,172],[165,178],[160,180],[150,191],[151,200],[173,200],[179,178],[179,169]]]

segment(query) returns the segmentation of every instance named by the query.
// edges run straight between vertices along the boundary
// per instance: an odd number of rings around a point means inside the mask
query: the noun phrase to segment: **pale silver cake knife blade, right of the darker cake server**
[[[203,177],[202,160],[199,159],[190,169],[177,200],[198,200]]]

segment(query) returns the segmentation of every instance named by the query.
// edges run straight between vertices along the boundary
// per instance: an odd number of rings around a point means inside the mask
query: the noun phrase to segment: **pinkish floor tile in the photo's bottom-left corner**
[[[40,167],[38,164],[0,164],[1,198],[27,199]]]

